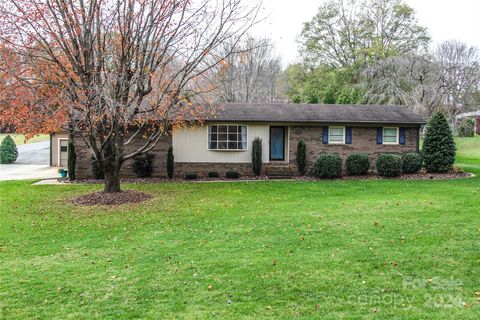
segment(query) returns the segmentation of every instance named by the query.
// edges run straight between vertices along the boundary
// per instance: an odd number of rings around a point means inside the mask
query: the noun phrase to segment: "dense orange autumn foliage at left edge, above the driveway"
[[[22,56],[0,45],[0,128],[25,137],[62,130],[68,105],[62,99],[55,65],[39,60],[28,64]]]

